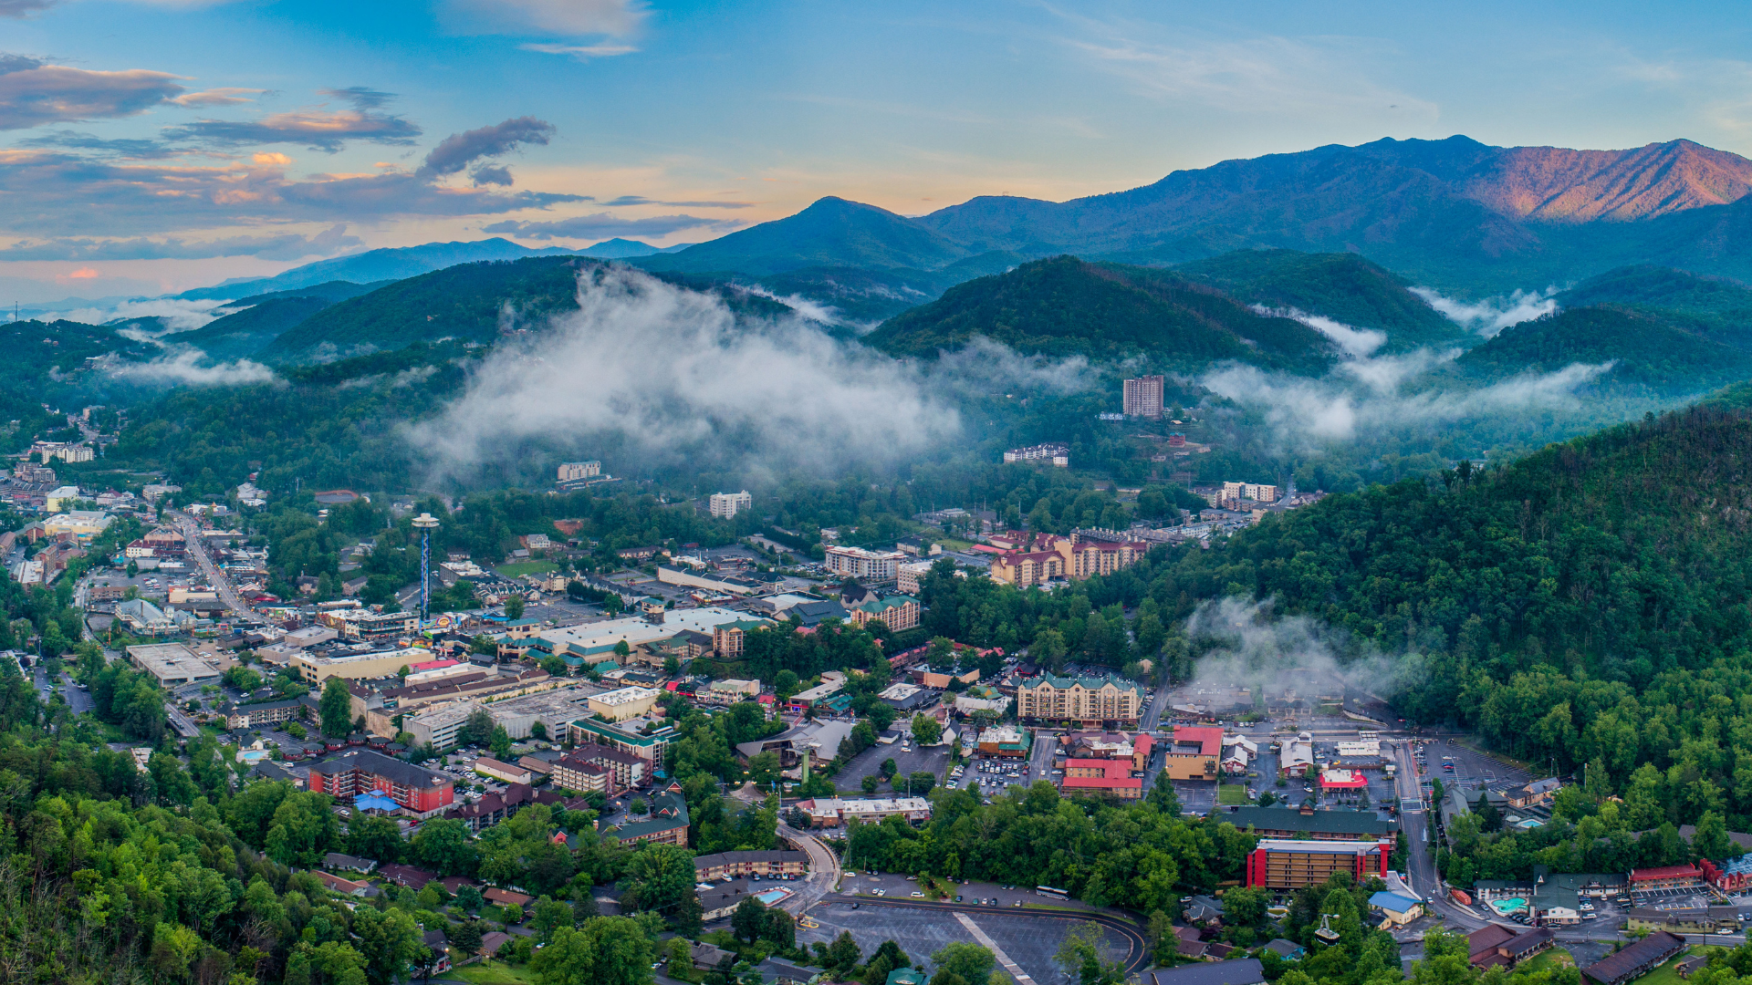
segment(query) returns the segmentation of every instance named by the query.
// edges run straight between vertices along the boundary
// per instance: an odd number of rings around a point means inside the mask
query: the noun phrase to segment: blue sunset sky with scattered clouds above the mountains
[[[0,0],[0,303],[1465,133],[1752,156],[1727,4]]]

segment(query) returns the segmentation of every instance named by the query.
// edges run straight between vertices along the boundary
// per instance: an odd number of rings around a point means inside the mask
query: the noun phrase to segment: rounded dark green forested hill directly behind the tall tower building
[[[895,356],[936,356],[974,337],[1020,352],[1141,354],[1177,368],[1219,359],[1318,368],[1332,359],[1326,337],[1298,321],[1254,314],[1172,272],[1070,256],[951,287],[888,319],[865,342]]]

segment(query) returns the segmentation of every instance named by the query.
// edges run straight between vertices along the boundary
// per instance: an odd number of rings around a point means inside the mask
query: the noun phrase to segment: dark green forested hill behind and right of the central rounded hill
[[[1388,351],[1463,337],[1459,326],[1412,294],[1405,280],[1354,252],[1235,251],[1174,272],[1251,305],[1300,308],[1353,328],[1386,331]]]

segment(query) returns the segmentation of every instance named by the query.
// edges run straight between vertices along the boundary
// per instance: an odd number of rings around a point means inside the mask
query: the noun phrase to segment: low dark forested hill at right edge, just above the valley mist
[[[1572,363],[1612,363],[1605,380],[1657,393],[1698,393],[1752,375],[1747,335],[1712,337],[1713,326],[1671,312],[1598,305],[1510,326],[1470,349],[1458,366],[1482,379],[1551,373]]]

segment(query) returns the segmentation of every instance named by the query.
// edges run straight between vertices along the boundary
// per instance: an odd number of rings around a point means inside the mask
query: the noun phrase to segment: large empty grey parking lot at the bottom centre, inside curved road
[[[888,882],[899,880],[890,876]],[[906,885],[911,887],[913,883]],[[1032,894],[1028,896],[1037,901]],[[851,901],[844,897],[815,906],[809,910],[809,917],[822,925],[815,929],[797,927],[799,945],[808,946],[813,941],[832,941],[841,931],[846,931],[864,953],[871,953],[883,941],[892,939],[913,959],[915,966],[923,964],[927,967],[930,953],[950,941],[983,943],[962,922],[967,920],[1039,985],[1070,981],[1053,962],[1053,953],[1063,943],[1065,932],[1074,925],[1074,918],[1070,917],[1023,917],[1007,904],[992,908],[990,913],[872,904],[860,904],[853,910]],[[1130,952],[1125,939],[1111,931],[1104,941],[1104,957],[1123,960]]]

